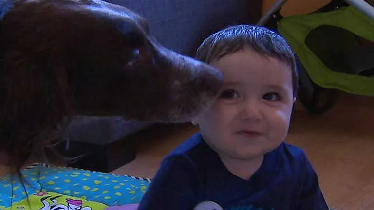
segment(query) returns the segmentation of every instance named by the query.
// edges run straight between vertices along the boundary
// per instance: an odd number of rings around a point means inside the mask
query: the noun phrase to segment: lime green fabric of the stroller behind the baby
[[[354,7],[347,6],[331,12],[288,16],[278,23],[279,33],[288,41],[314,83],[323,88],[336,88],[352,94],[374,96],[374,77],[350,74],[344,72],[344,69],[331,70],[316,52],[311,50],[313,44],[307,46],[307,36],[320,26],[338,27],[374,42],[374,21]],[[331,34],[325,36],[330,36],[331,40]],[[346,35],[341,34],[335,38],[343,36]],[[326,41],[319,44],[324,45]],[[374,57],[371,58],[373,59]]]

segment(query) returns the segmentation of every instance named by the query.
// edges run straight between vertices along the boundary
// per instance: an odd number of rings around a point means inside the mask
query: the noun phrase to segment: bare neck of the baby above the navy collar
[[[249,180],[261,167],[263,161],[263,155],[245,160],[225,155],[220,155],[220,157],[229,172],[244,180]]]

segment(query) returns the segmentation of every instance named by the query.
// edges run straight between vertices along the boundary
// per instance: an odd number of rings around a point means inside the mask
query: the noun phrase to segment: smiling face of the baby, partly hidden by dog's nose
[[[261,156],[285,139],[294,102],[290,67],[251,50],[211,63],[224,74],[220,98],[198,116],[206,142],[221,156]]]

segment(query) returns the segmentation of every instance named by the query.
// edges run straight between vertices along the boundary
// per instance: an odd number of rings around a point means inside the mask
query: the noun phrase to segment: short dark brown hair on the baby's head
[[[206,63],[248,47],[263,56],[279,59],[292,70],[293,93],[297,96],[298,73],[295,56],[286,40],[262,26],[235,25],[208,36],[197,49],[195,58]]]

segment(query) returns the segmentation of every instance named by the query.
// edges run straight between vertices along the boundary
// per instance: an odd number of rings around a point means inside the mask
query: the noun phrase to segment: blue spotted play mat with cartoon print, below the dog
[[[22,176],[25,188],[17,178],[0,177],[0,210],[104,210],[139,203],[150,184],[144,178],[45,164],[23,170]]]

